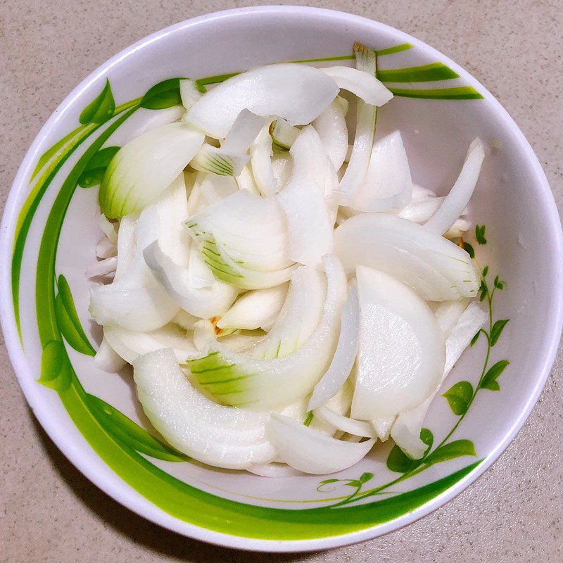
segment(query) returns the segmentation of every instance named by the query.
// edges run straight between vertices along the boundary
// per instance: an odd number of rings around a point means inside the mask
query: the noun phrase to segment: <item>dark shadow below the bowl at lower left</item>
[[[87,507],[89,512],[101,521],[106,522],[128,540],[160,555],[174,557],[175,560],[192,563],[210,561],[224,561],[232,563],[263,562],[265,554],[222,548],[217,545],[203,543],[199,540],[187,538],[179,533],[169,531],[153,522],[144,519],[135,512],[119,504],[103,493],[91,483],[67,458],[47,436],[42,426],[37,422],[31,410],[30,418],[46,455],[49,456],[53,467],[56,468],[66,486],[75,494],[77,500]],[[61,536],[62,538],[63,536]],[[267,558],[272,563],[291,563],[303,559],[306,553],[270,553]]]

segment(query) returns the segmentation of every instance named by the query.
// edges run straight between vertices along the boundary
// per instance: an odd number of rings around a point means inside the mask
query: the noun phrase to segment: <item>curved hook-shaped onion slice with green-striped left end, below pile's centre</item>
[[[285,358],[262,360],[213,343],[208,355],[189,362],[198,384],[222,403],[255,410],[286,405],[310,393],[334,354],[346,293],[339,261],[327,256],[324,267],[328,289],[322,319],[303,346]]]

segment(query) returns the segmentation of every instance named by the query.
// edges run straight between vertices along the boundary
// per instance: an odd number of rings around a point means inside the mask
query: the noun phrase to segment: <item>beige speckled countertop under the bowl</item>
[[[1,205],[39,127],[91,70],[162,27],[245,5],[221,0],[0,1]],[[398,27],[472,72],[523,129],[563,212],[562,0],[327,0],[310,5]],[[383,538],[305,555],[214,548],[129,512],[77,472],[47,438],[20,392],[4,341],[0,370],[0,562],[563,559],[561,349],[524,429],[464,493]]]

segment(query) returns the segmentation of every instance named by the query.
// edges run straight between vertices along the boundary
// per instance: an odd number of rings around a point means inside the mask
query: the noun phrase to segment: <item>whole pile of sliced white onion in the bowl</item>
[[[355,58],[182,80],[183,117],[103,177],[95,361],[132,364],[148,419],[200,462],[327,474],[389,437],[422,457],[431,400],[486,320],[460,246],[483,144],[448,196],[414,184],[400,132],[375,139],[393,98],[375,52]]]

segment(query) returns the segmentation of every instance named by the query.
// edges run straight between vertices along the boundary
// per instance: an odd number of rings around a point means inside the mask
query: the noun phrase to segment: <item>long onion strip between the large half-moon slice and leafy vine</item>
[[[481,309],[478,303],[469,304],[455,324],[455,327],[450,330],[448,339],[445,341],[445,365],[440,384],[434,393],[424,400],[423,403],[412,410],[401,412],[395,424],[393,424],[391,437],[399,448],[412,459],[419,459],[426,451],[427,446],[419,436],[426,412],[428,412],[432,400],[440,391],[444,379],[448,377],[455,362],[460,359],[464,350],[469,346],[469,342],[485,324],[487,318],[487,313]]]

